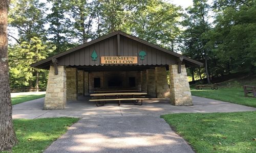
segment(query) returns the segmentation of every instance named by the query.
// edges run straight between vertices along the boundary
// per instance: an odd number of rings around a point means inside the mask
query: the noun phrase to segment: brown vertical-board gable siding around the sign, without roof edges
[[[93,50],[98,55],[96,61],[91,58]],[[147,54],[144,60],[140,60],[139,57],[141,50],[144,50]],[[100,65],[101,56],[118,56],[116,35],[80,48],[75,52],[59,57],[57,60],[58,65],[94,66]],[[169,65],[177,62],[177,57],[175,56],[122,35],[120,35],[120,56],[137,56],[138,64],[136,65]]]

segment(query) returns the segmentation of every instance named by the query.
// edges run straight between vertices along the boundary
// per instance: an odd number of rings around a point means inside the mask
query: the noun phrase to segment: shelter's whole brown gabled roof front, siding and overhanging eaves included
[[[93,50],[95,50],[99,57],[96,61],[91,59]],[[48,69],[52,59],[57,59],[58,65],[65,66],[102,66],[102,64],[100,64],[101,56],[139,56],[141,50],[144,50],[147,55],[144,60],[138,60],[138,64],[136,65],[176,64],[178,58],[183,58],[183,62],[189,66],[203,65],[201,62],[174,53],[168,49],[146,42],[124,32],[116,31],[71,48],[66,52],[41,60],[31,66]]]

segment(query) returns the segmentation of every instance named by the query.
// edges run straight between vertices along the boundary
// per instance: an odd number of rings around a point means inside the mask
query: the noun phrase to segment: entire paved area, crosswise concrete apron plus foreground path
[[[256,111],[256,108],[193,96],[194,106],[151,99],[142,106],[88,99],[69,101],[65,110],[42,110],[44,98],[13,106],[13,118],[82,117],[45,152],[194,152],[159,116],[170,113]]]

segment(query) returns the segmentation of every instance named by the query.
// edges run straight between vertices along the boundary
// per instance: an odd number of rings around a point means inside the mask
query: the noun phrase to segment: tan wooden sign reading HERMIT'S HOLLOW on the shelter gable
[[[137,56],[102,56],[100,64],[138,64]]]

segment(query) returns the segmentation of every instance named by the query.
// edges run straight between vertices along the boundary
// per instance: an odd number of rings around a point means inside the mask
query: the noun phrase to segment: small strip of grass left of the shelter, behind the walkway
[[[45,97],[45,95],[46,94],[18,95],[16,97],[12,97],[12,105],[23,103],[23,102],[29,101],[29,100],[42,98],[42,97]]]

